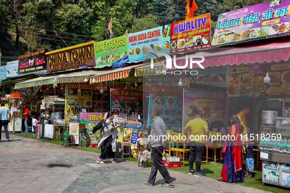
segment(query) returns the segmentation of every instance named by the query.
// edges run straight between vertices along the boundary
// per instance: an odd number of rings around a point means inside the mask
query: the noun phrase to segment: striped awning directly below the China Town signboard
[[[110,70],[90,70],[90,71],[81,71],[75,72],[66,75],[59,75],[57,83],[78,83],[78,82],[87,82],[90,79],[90,76],[101,74],[104,72],[109,72]]]

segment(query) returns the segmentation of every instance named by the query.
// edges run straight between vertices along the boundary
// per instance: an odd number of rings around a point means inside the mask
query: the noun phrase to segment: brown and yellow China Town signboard
[[[94,42],[47,52],[47,72],[78,69],[81,66],[95,66]]]

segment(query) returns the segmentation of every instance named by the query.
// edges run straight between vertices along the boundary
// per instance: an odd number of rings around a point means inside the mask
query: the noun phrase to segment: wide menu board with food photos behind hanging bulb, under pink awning
[[[268,71],[271,81],[264,83]],[[234,65],[228,68],[228,96],[290,95],[290,64]]]

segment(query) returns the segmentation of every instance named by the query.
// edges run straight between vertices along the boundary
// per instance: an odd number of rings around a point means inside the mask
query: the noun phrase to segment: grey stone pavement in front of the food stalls
[[[175,188],[145,186],[151,168],[116,159],[97,164],[99,154],[10,135],[0,142],[0,193],[266,193],[265,191],[197,178],[169,170]]]

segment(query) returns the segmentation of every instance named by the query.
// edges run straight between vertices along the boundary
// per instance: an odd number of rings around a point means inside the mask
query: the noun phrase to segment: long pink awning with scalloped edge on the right
[[[186,53],[186,55],[189,52]],[[275,40],[263,41],[257,44],[212,48],[207,50],[199,50],[190,54],[198,54],[205,57],[205,61],[201,64],[204,67],[208,66],[225,66],[234,64],[247,63],[264,63],[264,62],[278,62],[281,60],[288,61],[290,57],[290,40]],[[200,60],[200,59],[196,59]],[[176,59],[177,66],[185,66],[185,56]],[[193,64],[193,68],[199,67]],[[172,68],[174,65],[172,65]],[[188,66],[189,68],[189,62]]]

